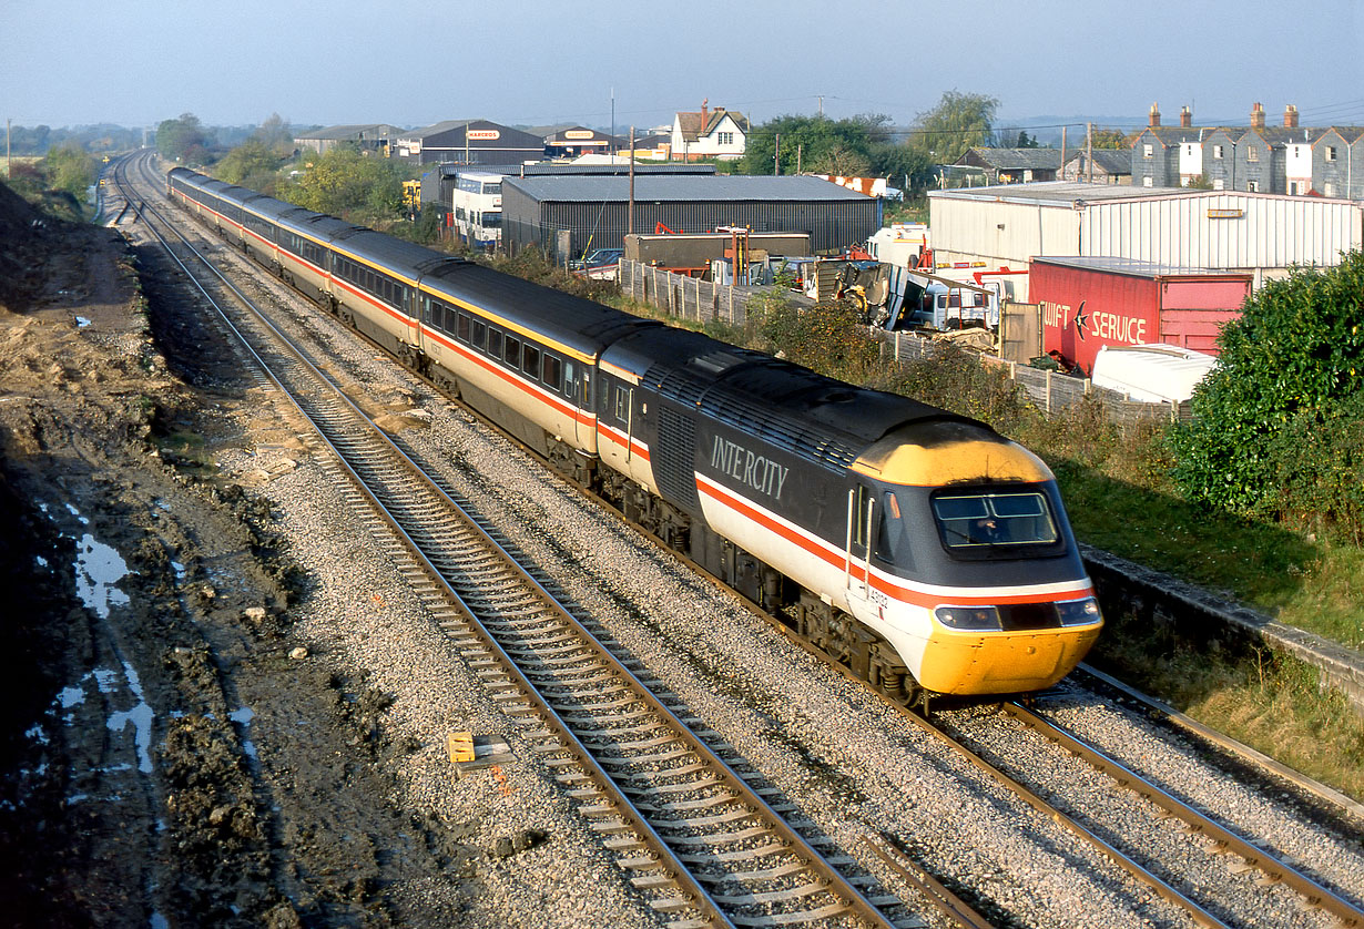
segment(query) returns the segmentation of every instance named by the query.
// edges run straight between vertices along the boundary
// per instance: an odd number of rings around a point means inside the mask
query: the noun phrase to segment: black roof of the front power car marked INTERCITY
[[[832,468],[850,467],[868,446],[903,426],[955,422],[989,428],[681,329],[629,336],[602,359],[664,397]]]

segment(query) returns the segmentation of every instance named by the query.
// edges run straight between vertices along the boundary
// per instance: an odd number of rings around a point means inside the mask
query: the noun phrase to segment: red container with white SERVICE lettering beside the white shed
[[[1254,276],[1128,258],[1034,258],[1031,301],[1042,341],[1084,374],[1105,345],[1162,342],[1217,355],[1224,325],[1241,315]]]

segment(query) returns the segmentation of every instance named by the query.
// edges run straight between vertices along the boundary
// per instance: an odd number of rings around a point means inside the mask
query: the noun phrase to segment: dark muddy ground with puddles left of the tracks
[[[269,507],[202,465],[297,438],[162,262],[0,187],[4,922],[419,925],[387,888],[477,894],[479,851],[383,802],[383,694],[296,656]]]

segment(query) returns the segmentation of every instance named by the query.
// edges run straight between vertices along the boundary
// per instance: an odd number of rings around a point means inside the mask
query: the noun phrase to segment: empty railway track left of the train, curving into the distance
[[[139,169],[149,171],[145,160]],[[119,183],[127,184],[124,175]],[[656,693],[660,685],[637,662],[618,655],[550,578],[525,567],[495,529],[374,426],[306,346],[217,271],[207,281],[192,271],[195,262],[211,265],[188,240],[172,246],[161,231],[170,224],[154,207],[130,201],[252,363],[311,423],[337,483],[406,562],[412,589],[453,647],[670,925],[919,925],[903,902],[876,892],[854,858],[821,850],[821,836],[790,825],[784,814],[797,810],[769,802],[776,791],[741,773],[732,749]]]

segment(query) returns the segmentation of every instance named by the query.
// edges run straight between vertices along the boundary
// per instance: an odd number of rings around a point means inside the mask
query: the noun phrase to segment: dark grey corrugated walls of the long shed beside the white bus
[[[627,232],[623,202],[539,202],[514,186],[502,191],[502,233],[516,254],[525,247],[555,252],[559,232],[569,231],[572,250],[623,248]],[[705,232],[716,226],[747,226],[754,232],[806,232],[817,254],[865,241],[880,226],[880,202],[848,201],[692,201],[636,202],[634,231],[652,233],[662,222],[674,232]],[[563,255],[557,255],[562,259]]]

